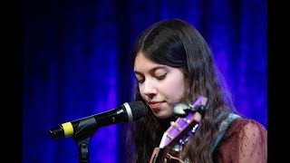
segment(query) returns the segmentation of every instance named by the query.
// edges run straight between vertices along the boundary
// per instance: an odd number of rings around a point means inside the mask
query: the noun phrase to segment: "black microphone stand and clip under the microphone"
[[[73,135],[73,140],[78,146],[79,163],[89,163],[89,144],[93,134],[98,130],[97,126],[94,118],[82,120]]]

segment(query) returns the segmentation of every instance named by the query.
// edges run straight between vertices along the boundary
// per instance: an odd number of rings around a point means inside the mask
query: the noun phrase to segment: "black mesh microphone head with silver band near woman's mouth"
[[[126,102],[127,103],[127,102]],[[126,106],[126,103],[124,105]],[[127,113],[129,116],[129,121],[139,120],[140,118],[144,117],[146,114],[145,105],[142,101],[131,101],[128,102],[130,106],[130,110],[127,109]]]

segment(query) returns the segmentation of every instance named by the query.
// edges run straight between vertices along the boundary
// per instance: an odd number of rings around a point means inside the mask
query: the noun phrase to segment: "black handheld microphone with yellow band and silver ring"
[[[79,120],[65,122],[49,129],[51,139],[67,137],[87,137],[104,126],[115,123],[131,122],[145,116],[145,105],[142,101],[125,102],[120,107]]]

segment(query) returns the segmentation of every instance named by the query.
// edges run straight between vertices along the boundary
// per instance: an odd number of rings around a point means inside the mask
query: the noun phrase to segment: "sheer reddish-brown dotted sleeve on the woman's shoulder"
[[[266,162],[267,130],[256,120],[232,121],[214,153],[218,162]]]

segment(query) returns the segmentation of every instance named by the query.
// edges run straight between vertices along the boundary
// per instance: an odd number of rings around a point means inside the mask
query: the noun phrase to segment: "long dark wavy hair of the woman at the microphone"
[[[182,159],[188,158],[189,162],[212,162],[211,149],[218,135],[218,125],[235,108],[208,43],[191,24],[171,19],[153,24],[140,34],[132,55],[133,67],[135,57],[140,52],[153,62],[179,68],[184,72],[189,82],[189,91],[185,94],[187,101],[193,102],[199,95],[208,98],[206,116],[182,149]],[[137,82],[133,101],[143,101]],[[174,120],[173,117],[157,119],[148,106],[146,111],[144,118],[129,124],[131,127],[127,143],[130,162],[148,163],[153,149],[159,147],[163,133],[169,128],[169,121]],[[214,121],[221,111],[224,116]]]

